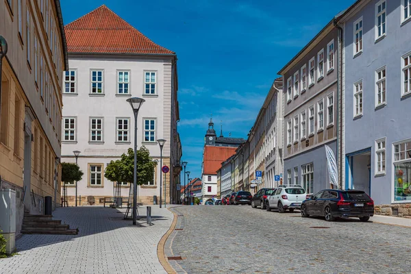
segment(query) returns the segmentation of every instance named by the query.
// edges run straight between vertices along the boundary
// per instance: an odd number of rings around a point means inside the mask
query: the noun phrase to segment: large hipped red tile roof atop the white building
[[[69,53],[175,54],[129,25],[105,5],[64,27]]]

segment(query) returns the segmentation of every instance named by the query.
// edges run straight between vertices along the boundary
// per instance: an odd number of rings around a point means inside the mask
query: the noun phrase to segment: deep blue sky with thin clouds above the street
[[[201,176],[212,114],[219,134],[247,138],[277,72],[354,0],[63,0],[64,25],[100,5],[177,53],[179,134]]]

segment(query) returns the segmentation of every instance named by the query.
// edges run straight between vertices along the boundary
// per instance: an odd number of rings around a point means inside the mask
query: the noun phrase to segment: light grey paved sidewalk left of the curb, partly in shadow
[[[23,235],[16,241],[19,255],[0,259],[0,273],[166,273],[157,256],[157,245],[173,222],[173,213],[151,206],[153,225],[145,219],[132,225],[123,220],[125,209],[83,206],[58,208],[61,219],[79,234]],[[145,216],[146,207],[139,208]]]

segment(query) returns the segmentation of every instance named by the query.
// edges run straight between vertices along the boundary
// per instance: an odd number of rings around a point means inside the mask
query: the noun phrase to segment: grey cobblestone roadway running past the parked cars
[[[166,256],[182,256],[170,261],[178,273],[410,273],[409,227],[251,206],[172,210],[183,230],[167,240]]]

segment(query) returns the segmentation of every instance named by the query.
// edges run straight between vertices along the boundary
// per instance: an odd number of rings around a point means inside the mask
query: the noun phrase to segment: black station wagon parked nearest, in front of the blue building
[[[325,221],[336,218],[358,217],[369,221],[374,215],[374,201],[362,190],[325,189],[301,204],[301,216],[325,216]]]

